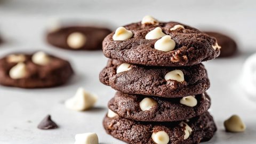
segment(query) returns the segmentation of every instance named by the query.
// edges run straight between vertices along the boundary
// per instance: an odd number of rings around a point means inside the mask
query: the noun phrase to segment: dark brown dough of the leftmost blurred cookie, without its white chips
[[[10,70],[18,65],[18,62],[10,62],[10,55],[0,59],[0,84],[22,88],[44,88],[65,84],[74,74],[68,61],[49,55],[51,61],[47,65],[38,65],[31,58],[32,54],[22,54],[25,57],[23,62],[26,66],[26,76],[22,78],[11,78]]]

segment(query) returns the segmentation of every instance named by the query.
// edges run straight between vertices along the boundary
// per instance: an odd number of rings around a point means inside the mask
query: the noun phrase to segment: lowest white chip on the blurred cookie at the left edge
[[[12,79],[24,78],[27,75],[25,63],[19,62],[16,66],[12,67],[9,75]]]

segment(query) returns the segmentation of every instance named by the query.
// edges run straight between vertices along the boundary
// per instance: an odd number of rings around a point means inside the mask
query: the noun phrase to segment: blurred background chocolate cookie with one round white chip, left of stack
[[[74,26],[63,27],[47,34],[47,42],[68,50],[100,50],[107,28]]]

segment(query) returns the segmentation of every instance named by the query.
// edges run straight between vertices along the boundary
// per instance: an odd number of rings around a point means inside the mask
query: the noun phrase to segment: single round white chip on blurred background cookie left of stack
[[[81,49],[86,43],[86,36],[82,33],[71,33],[67,38],[67,44],[73,49]]]

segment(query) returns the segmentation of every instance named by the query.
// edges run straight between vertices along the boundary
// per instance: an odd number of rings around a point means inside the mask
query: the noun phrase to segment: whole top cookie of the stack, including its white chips
[[[107,58],[148,66],[192,66],[220,54],[214,37],[149,16],[117,28],[104,39],[102,49]]]

